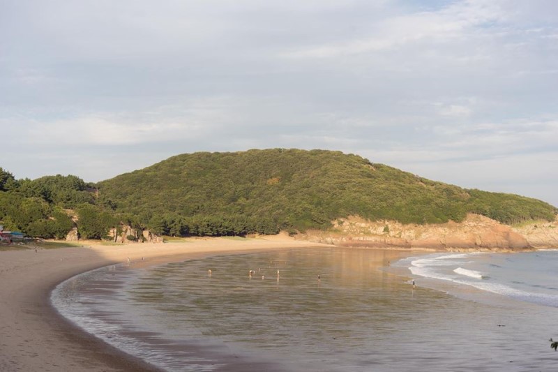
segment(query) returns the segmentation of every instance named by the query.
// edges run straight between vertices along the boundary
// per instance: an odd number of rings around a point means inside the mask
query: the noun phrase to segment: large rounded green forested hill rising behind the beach
[[[100,204],[170,235],[326,228],[358,215],[402,223],[552,221],[540,200],[467,190],[340,151],[298,149],[173,156],[98,185]]]

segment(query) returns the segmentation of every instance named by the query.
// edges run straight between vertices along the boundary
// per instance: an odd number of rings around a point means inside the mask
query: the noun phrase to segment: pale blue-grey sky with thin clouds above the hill
[[[0,167],[331,149],[558,206],[558,1],[0,0]]]

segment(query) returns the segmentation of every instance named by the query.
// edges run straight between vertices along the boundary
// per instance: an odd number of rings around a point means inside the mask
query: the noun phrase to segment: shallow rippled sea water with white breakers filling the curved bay
[[[382,254],[303,248],[116,265],[59,285],[52,302],[166,371],[557,366],[548,338],[558,336],[558,252],[437,253],[378,269]]]

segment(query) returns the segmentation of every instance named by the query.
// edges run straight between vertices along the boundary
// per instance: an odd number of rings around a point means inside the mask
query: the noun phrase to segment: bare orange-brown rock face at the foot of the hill
[[[536,226],[536,227],[534,227]],[[333,231],[311,231],[303,237],[340,246],[435,248],[435,249],[529,249],[558,247],[557,222],[512,228],[485,216],[469,214],[465,221],[439,225],[403,225],[394,221],[340,218]]]

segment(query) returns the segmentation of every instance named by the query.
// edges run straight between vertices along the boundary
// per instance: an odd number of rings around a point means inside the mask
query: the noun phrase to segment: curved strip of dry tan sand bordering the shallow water
[[[61,318],[50,293],[84,271],[126,262],[184,260],[215,253],[319,246],[286,236],[262,239],[192,239],[0,252],[0,371],[154,371]]]

